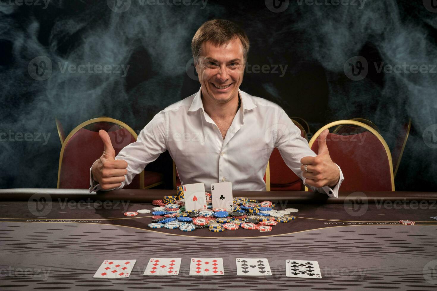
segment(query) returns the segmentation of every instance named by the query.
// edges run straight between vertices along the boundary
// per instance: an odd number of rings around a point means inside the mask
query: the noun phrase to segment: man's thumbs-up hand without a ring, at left
[[[123,160],[115,160],[115,151],[111,139],[104,130],[99,130],[104,145],[104,151],[100,159],[94,162],[91,172],[95,181],[99,182],[103,190],[109,190],[121,186],[125,181],[128,163]]]

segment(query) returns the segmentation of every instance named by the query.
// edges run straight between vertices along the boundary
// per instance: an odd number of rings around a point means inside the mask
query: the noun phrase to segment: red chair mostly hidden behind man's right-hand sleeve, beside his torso
[[[291,120],[300,129],[301,136],[306,138],[302,125],[294,119]],[[304,185],[301,178],[288,168],[277,148],[273,149],[269,162],[271,191],[303,191]]]

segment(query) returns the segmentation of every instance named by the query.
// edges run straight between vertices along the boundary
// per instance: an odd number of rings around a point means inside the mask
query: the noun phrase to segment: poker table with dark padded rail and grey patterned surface
[[[151,201],[175,190],[0,190],[1,290],[437,289],[437,193],[238,192],[296,219],[271,232],[151,229]],[[415,225],[399,224],[411,219]],[[153,257],[182,258],[176,276],[143,276]],[[221,257],[222,276],[190,276],[193,257]],[[236,258],[267,258],[271,276],[237,276]],[[137,260],[128,278],[93,278],[103,260]],[[316,260],[322,278],[285,276],[285,260]]]

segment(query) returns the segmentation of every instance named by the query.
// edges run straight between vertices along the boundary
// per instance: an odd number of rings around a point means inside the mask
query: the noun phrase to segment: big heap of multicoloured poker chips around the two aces
[[[223,208],[212,209],[211,194],[206,192],[205,195],[207,207],[203,209],[185,211],[184,206],[182,206],[184,205],[182,199],[173,204],[154,207],[154,212],[152,212],[153,220],[149,227],[179,228],[184,232],[194,231],[206,226],[212,232],[237,230],[239,228],[272,231],[273,226],[278,223],[288,223],[290,220],[295,219],[295,216],[290,214],[298,212],[298,209],[275,210],[273,209],[275,205],[270,201],[259,202],[246,197],[234,198],[232,212]],[[162,202],[163,200],[155,200],[153,205],[160,205]]]

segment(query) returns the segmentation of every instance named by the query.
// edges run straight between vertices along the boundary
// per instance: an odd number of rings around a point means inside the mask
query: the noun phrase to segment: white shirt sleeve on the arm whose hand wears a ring
[[[293,121],[288,117],[287,113],[278,106],[276,109],[276,120],[274,124],[273,132],[276,133],[274,136],[275,144],[281,157],[284,159],[285,164],[291,169],[299,178],[302,179],[303,184],[310,188],[314,192],[326,193],[329,197],[338,197],[338,190],[340,188],[341,182],[343,181],[343,173],[340,167],[340,179],[337,185],[332,189],[329,186],[324,186],[321,188],[316,188],[305,184],[305,178],[303,177],[303,172],[301,171],[300,160],[302,157],[316,157],[316,153],[309,148],[308,141],[301,137],[300,129],[293,123]]]

